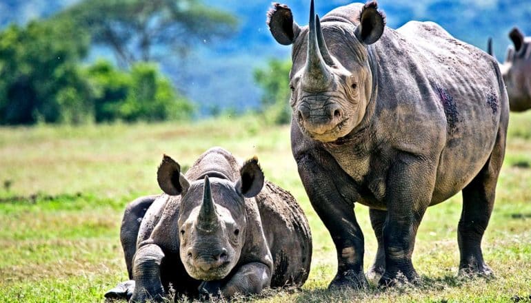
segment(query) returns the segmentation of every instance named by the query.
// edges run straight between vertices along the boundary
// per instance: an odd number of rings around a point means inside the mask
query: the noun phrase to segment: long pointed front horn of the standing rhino
[[[308,52],[303,82],[312,90],[325,90],[332,81],[332,75],[328,71],[319,50],[315,17],[314,1],[312,0],[310,3],[310,23],[308,24]]]

